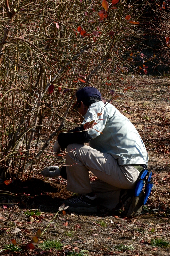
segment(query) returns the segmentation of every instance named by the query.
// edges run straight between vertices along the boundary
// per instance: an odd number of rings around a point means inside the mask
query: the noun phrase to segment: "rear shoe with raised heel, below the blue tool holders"
[[[121,213],[123,217],[138,216],[142,211],[144,200],[144,193],[141,192],[139,196],[135,197],[133,194],[124,202],[125,210]]]

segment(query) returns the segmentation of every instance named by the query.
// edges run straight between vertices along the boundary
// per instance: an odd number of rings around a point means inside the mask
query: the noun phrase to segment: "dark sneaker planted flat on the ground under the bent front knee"
[[[64,201],[65,206],[69,206],[68,210],[73,212],[97,212],[96,195],[88,196],[81,194]]]

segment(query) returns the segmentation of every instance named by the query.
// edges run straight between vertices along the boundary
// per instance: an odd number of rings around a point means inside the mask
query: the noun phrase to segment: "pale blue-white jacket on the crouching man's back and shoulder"
[[[97,123],[88,130],[93,138],[90,141],[92,148],[111,154],[119,165],[148,165],[148,154],[138,131],[117,108],[102,101],[93,103],[82,124],[92,120]]]

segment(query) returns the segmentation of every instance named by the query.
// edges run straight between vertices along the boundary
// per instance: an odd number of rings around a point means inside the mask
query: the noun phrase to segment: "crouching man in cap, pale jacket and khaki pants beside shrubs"
[[[54,144],[55,153],[66,148],[66,166],[46,171],[62,175],[67,179],[67,190],[79,194],[64,202],[71,211],[96,212],[97,205],[118,210],[124,205],[122,216],[138,215],[143,192],[138,197],[133,192],[148,162],[139,133],[118,109],[101,100],[96,88],[84,87],[76,96],[82,125],[61,132]],[[89,146],[84,145],[88,142]],[[89,170],[98,178],[91,183]]]

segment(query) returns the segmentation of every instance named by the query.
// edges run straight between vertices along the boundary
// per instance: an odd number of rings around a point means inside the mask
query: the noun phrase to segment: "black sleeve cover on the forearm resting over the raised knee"
[[[58,143],[61,148],[66,148],[69,144],[79,143],[84,144],[92,140],[92,137],[84,130],[83,125],[76,127],[69,132],[61,132],[58,135]]]

